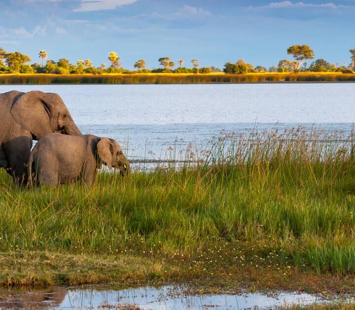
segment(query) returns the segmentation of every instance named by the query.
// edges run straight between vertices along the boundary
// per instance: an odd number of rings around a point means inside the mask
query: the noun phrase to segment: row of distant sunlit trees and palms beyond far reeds
[[[78,60],[76,64],[71,63],[66,58],[61,58],[57,62],[48,60],[44,64],[44,60],[48,58],[47,52],[42,50],[38,53],[41,63],[31,62],[31,58],[20,52],[7,53],[0,48],[0,74],[11,73],[23,73],[23,74],[95,74],[102,75],[107,73],[116,74],[144,74],[144,73],[194,73],[194,74],[209,74],[213,72],[224,72],[226,74],[246,74],[256,72],[342,72],[353,73],[355,70],[355,49],[349,50],[350,63],[330,63],[324,59],[317,59],[310,65],[306,60],[312,60],[315,58],[314,51],[308,45],[292,45],[287,49],[287,55],[291,55],[292,60],[283,59],[280,60],[278,65],[273,65],[266,68],[261,65],[254,66],[251,63],[247,63],[240,59],[237,62],[226,62],[223,70],[214,66],[200,67],[200,62],[197,59],[191,60],[192,68],[183,66],[184,61],[178,60],[178,67],[169,57],[162,57],[158,59],[159,68],[146,68],[146,62],[144,59],[140,59],[135,62],[134,67],[137,70],[128,70],[122,67],[121,59],[117,56],[117,53],[110,52],[108,54],[108,60],[110,66],[106,67],[106,63],[101,63],[99,67],[95,67],[93,62],[89,59]]]

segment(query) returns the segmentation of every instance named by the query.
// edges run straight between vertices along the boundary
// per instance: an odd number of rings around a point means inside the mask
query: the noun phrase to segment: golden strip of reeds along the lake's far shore
[[[249,74],[103,74],[0,75],[0,84],[201,84],[272,82],[355,82],[355,74],[342,73],[249,73]]]

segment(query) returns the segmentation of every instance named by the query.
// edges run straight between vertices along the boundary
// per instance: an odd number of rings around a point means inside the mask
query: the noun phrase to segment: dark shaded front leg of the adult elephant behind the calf
[[[17,186],[26,185],[28,182],[27,164],[31,154],[32,138],[28,136],[16,137],[5,142],[3,148],[8,160],[7,173],[12,176]]]

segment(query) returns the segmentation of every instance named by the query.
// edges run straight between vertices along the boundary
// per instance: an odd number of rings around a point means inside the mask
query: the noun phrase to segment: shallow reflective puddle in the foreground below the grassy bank
[[[326,303],[320,295],[250,293],[241,295],[190,295],[183,287],[162,286],[119,289],[115,287],[66,288],[0,291],[0,308],[117,309],[118,305],[138,305],[141,309],[267,309],[285,304]]]

